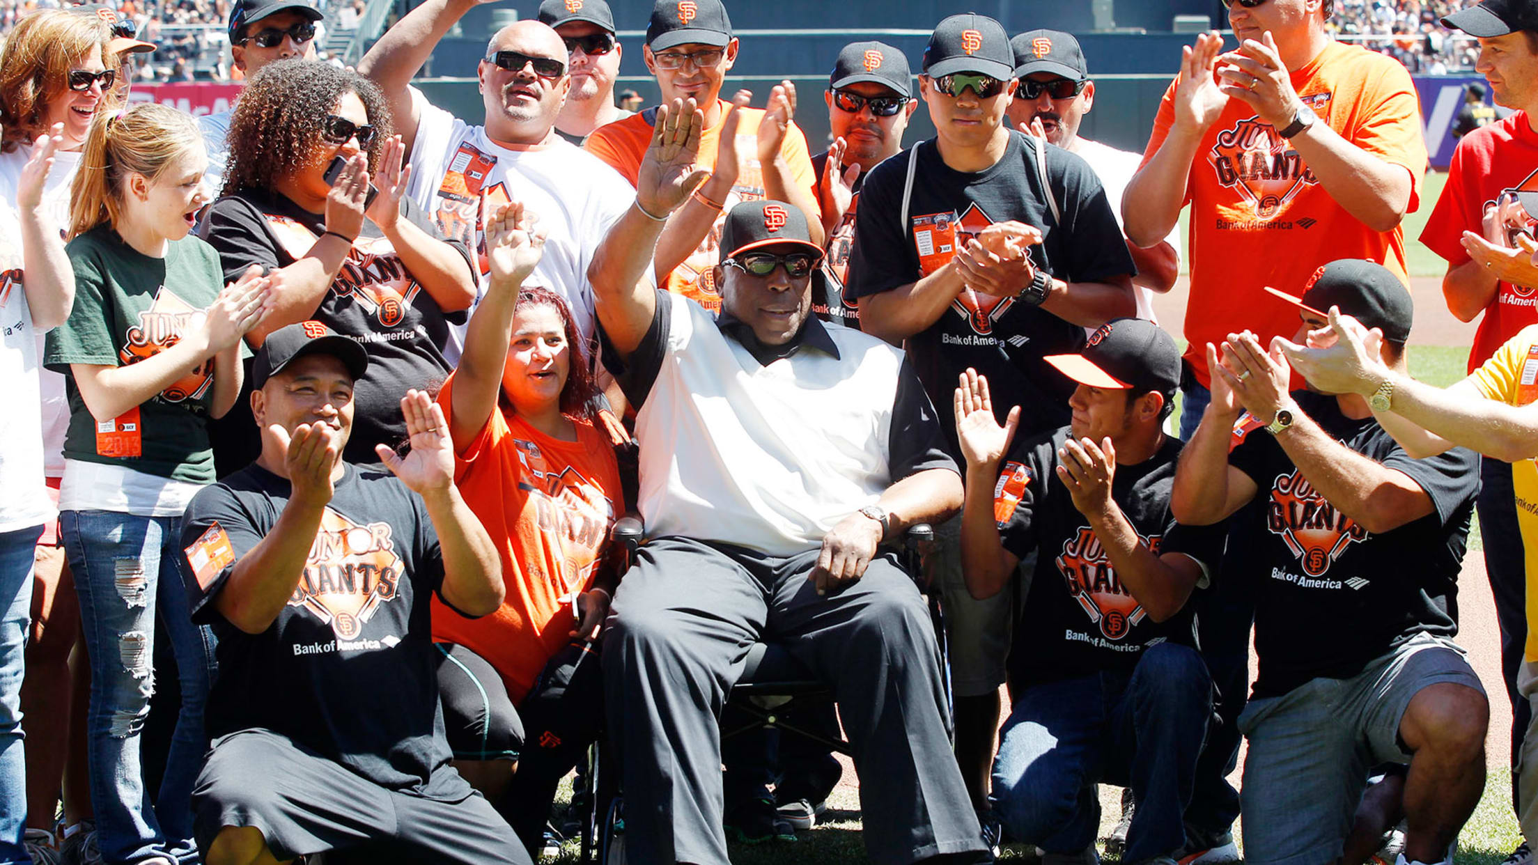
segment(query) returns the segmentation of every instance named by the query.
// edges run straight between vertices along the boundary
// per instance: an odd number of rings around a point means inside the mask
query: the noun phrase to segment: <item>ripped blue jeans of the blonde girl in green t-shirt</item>
[[[203,703],[215,662],[214,636],[192,623],[181,582],[181,519],[63,511],[58,525],[91,654],[86,760],[102,856],[108,862],[197,862],[191,796],[208,750]],[[151,799],[140,733],[155,686],[157,614],[171,639],[181,706],[165,777]]]

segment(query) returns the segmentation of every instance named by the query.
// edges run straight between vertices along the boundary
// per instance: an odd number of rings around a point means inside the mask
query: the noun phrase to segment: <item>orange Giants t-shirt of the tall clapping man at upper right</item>
[[[1332,42],[1292,86],[1341,137],[1409,169],[1410,206],[1420,208],[1426,142],[1415,85],[1384,54]],[[1170,83],[1154,122],[1143,163],[1158,152],[1175,123]],[[1230,99],[1207,129],[1186,182],[1190,205],[1190,299],[1186,359],[1207,382],[1206,343],[1250,329],[1261,343],[1292,337],[1298,309],[1261,291],[1298,294],[1313,271],[1337,259],[1370,259],[1409,285],[1404,231],[1378,232],[1346,212],[1277,131],[1243,102]],[[1406,288],[1406,291],[1409,291]]]

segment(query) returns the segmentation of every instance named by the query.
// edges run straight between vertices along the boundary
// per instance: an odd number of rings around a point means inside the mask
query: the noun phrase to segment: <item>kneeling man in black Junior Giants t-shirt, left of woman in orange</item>
[[[401,400],[394,477],[341,462],[361,346],[301,322],[252,366],[261,456],[183,519],[194,619],[218,636],[214,743],[192,791],[208,865],[366,850],[369,862],[528,863],[449,766],[432,593],[466,616],[501,603],[497,546],[454,486],[443,411]]]

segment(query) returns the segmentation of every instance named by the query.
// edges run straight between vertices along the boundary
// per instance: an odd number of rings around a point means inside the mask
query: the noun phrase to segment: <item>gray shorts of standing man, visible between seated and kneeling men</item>
[[[966,579],[961,576],[961,517],[935,526],[935,540],[938,551],[932,566],[946,611],[950,691],[957,697],[990,694],[1004,683],[1015,633],[1015,603],[1030,583],[1015,579],[994,597],[978,600],[966,589]],[[1034,569],[1035,554],[1020,563],[1017,574],[1024,574],[1029,580]]]

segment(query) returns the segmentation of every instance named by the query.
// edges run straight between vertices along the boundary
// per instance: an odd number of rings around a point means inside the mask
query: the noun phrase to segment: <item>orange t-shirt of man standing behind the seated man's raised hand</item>
[[[715,149],[721,140],[721,126],[726,125],[726,112],[731,108],[731,103],[724,100],[717,100],[717,105],[721,109],[721,120],[700,134],[700,154],[695,157],[695,165],[701,168],[715,168]],[[711,268],[721,263],[721,226],[726,223],[726,211],[741,202],[755,202],[764,197],[763,168],[755,155],[758,152],[758,123],[763,120],[764,111],[761,108],[741,111],[743,117],[737,125],[737,160],[740,163],[737,183],[721,202],[726,206],[715,219],[711,232],[704,235],[700,248],[667,276],[667,291],[692,297],[712,312],[721,308],[721,292],[715,286]],[[634,186],[635,177],[641,171],[641,159],[652,143],[655,132],[652,120],[655,117],[655,109],[646,109],[624,120],[600,126],[588,135],[583,146],[614,166]],[[817,172],[812,169],[812,157],[806,151],[806,135],[794,123],[786,131],[784,143],[780,145],[780,155],[791,166],[791,177],[795,183],[812,194],[817,186]]]

